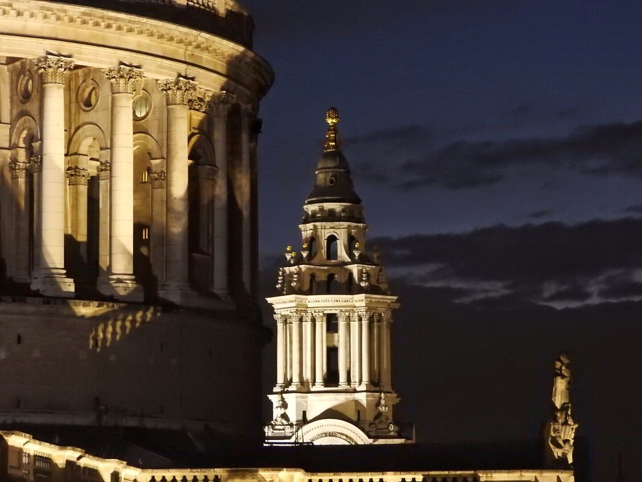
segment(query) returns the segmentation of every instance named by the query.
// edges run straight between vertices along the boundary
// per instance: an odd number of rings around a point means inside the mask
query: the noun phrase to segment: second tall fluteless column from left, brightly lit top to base
[[[116,298],[143,301],[134,276],[134,90],[143,80],[137,66],[105,70],[112,84],[109,287]]]

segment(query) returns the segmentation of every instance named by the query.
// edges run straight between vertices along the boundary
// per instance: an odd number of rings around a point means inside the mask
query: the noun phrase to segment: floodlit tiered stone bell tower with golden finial
[[[299,225],[300,252],[288,246],[279,296],[277,384],[268,395],[267,443],[410,442],[393,422],[390,326],[399,306],[376,252],[367,251],[361,199],[343,156],[336,109],[327,111],[324,153]]]

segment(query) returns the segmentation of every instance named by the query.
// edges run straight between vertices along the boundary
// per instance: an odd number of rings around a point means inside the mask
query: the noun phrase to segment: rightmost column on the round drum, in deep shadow
[[[241,179],[237,183],[239,206],[243,213],[243,285],[249,293],[252,289],[252,170],[250,166],[250,136],[256,122],[254,105],[241,109]]]

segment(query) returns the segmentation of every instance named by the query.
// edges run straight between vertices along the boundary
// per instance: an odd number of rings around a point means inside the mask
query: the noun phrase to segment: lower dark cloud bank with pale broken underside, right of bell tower
[[[585,301],[591,290],[600,290],[602,298],[637,296],[640,287],[625,281],[642,269],[641,236],[642,220],[627,218],[573,226],[492,226],[373,242],[396,276],[415,283],[465,288],[470,299],[516,294],[550,302]],[[623,270],[619,278],[607,276]]]

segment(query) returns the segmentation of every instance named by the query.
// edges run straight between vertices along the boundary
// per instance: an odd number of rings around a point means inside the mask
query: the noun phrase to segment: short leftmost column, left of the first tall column
[[[24,152],[21,152],[24,155]],[[31,281],[29,274],[29,193],[28,175],[30,163],[12,159],[9,163],[13,200],[13,235],[15,236],[15,272],[13,280],[18,283]]]

